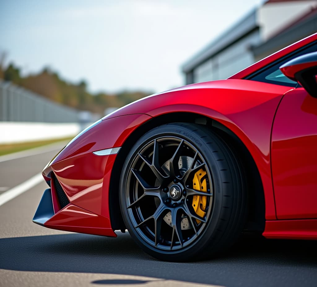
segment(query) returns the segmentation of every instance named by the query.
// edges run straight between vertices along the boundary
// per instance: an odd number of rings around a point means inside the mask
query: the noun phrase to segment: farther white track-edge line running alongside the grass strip
[[[47,144],[47,145],[37,147],[34,149],[18,151],[18,152],[11,153],[5,156],[0,156],[0,163],[6,162],[12,159],[21,158],[21,157],[35,156],[35,155],[39,155],[39,154],[46,153],[53,150],[58,150],[58,149],[61,150],[66,145],[66,143],[67,143],[66,141],[61,141],[57,143]]]

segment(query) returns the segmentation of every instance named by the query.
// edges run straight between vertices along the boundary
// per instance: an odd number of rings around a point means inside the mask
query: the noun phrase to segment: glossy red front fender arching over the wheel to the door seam
[[[190,112],[220,122],[240,138],[255,160],[264,189],[265,216],[267,220],[274,220],[270,138],[276,109],[290,89],[250,80],[219,80],[149,96],[110,116],[142,112],[156,118],[168,113]]]

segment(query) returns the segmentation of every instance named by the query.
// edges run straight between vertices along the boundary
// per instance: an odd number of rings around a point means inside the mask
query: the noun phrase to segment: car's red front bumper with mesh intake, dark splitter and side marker
[[[149,118],[132,114],[103,120],[62,149],[42,172],[50,188],[33,221],[53,229],[116,237],[109,203],[115,152]]]

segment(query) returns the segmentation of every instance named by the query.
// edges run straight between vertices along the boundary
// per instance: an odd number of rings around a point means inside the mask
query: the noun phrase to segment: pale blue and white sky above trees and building
[[[181,66],[263,0],[0,0],[0,53],[90,92],[184,85]]]

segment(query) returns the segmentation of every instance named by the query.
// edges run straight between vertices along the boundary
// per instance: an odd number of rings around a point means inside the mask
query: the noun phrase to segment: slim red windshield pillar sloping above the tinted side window
[[[310,35],[300,41],[297,41],[294,44],[289,45],[286,48],[283,48],[272,55],[269,55],[268,57],[256,62],[255,64],[245,68],[244,70],[232,75],[229,79],[243,79],[249,76],[250,74],[256,72],[257,70],[261,69],[262,67],[269,65],[270,63],[278,60],[279,58],[288,55],[315,40],[317,40],[317,33]]]

